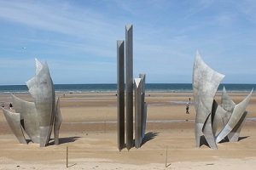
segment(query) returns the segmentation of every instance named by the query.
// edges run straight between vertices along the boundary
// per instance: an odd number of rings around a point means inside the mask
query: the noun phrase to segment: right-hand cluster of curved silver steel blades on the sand
[[[237,141],[242,122],[247,115],[246,107],[252,92],[236,105],[226,94],[222,94],[221,105],[214,100],[218,85],[224,75],[213,71],[197,52],[193,69],[193,94],[195,100],[195,143],[200,147],[201,136],[205,136],[210,148],[218,149],[217,144],[226,136]],[[217,135],[218,128],[220,132]]]

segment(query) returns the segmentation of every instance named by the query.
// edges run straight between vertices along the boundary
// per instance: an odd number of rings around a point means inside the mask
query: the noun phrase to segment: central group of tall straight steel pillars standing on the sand
[[[133,84],[132,25],[125,26],[124,41],[117,42],[117,138],[118,148],[128,150],[133,146],[133,86],[135,90],[135,146],[143,142],[147,108],[145,104],[145,75],[141,74]],[[138,81],[138,82],[137,82]],[[139,86],[139,88],[138,88]],[[137,87],[137,88],[136,88]]]

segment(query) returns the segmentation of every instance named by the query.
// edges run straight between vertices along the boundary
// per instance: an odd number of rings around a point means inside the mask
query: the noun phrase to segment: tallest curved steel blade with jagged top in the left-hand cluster
[[[26,82],[38,111],[40,127],[40,146],[49,142],[55,113],[54,86],[49,75],[48,65],[36,59],[36,76]]]

